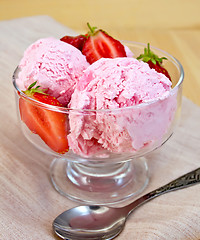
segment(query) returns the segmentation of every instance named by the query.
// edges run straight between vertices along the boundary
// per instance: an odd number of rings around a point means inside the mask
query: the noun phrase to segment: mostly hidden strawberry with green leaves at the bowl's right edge
[[[155,69],[159,73],[163,73],[169,80],[171,81],[171,77],[168,71],[162,66],[163,59],[167,59],[166,57],[159,58],[156,54],[154,54],[150,50],[150,44],[147,44],[147,48],[144,49],[144,54],[140,54],[137,59],[142,59],[143,62],[147,62],[150,68]]]

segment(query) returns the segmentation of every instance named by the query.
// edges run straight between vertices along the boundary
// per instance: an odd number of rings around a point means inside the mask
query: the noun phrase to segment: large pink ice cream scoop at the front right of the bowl
[[[176,109],[170,90],[167,77],[134,58],[96,61],[85,70],[69,104],[82,109],[69,115],[71,149],[91,156],[105,150],[135,152],[161,142]]]

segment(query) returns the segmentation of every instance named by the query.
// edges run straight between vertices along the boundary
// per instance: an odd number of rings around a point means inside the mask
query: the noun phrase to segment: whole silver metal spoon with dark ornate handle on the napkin
[[[60,214],[53,222],[55,233],[68,240],[113,239],[124,228],[127,217],[143,203],[164,193],[200,182],[200,168],[138,198],[122,207],[79,206]]]

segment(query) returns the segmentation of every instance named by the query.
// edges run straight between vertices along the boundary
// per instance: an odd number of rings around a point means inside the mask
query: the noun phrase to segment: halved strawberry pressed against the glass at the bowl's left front
[[[39,86],[33,88],[35,84],[36,82],[31,84],[24,93],[39,102],[61,106],[56,98],[45,94],[42,89],[39,89]],[[33,133],[38,134],[53,151],[62,154],[68,151],[66,114],[40,107],[23,97],[19,99],[19,110],[21,120]]]

